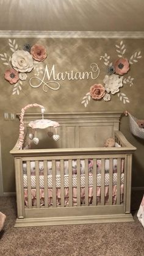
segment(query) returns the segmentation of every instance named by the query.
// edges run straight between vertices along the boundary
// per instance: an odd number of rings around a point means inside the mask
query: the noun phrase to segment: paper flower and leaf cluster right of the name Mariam
[[[110,101],[112,95],[115,95],[115,93],[117,93],[120,101],[124,104],[129,103],[129,98],[125,93],[120,92],[120,87],[123,87],[123,84],[129,84],[130,87],[133,85],[134,78],[131,76],[124,78],[124,75],[129,72],[130,65],[138,62],[138,59],[142,56],[140,51],[135,51],[129,59],[124,57],[126,47],[123,41],[120,42],[120,45],[115,45],[115,47],[118,53],[118,59],[116,59],[115,62],[112,63],[110,61],[110,56],[107,53],[100,56],[100,60],[103,60],[104,65],[107,67],[108,75],[103,79],[104,85],[94,84],[90,87],[90,91],[85,94],[84,98],[82,98],[81,103],[84,104],[85,108],[91,98],[93,100],[103,99],[104,101]]]

